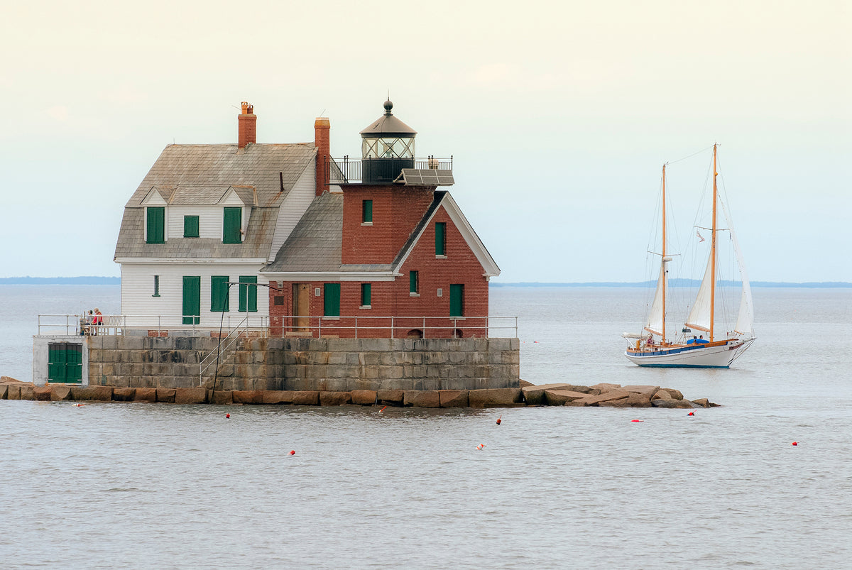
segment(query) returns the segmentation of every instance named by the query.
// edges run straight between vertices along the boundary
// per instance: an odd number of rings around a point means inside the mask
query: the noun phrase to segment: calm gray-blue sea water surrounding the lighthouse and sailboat
[[[501,287],[492,314],[521,315],[531,382],[659,384],[722,407],[0,401],[0,562],[852,567],[852,290],[757,290],[757,343],[717,371],[625,360],[644,296]],[[28,315],[95,306],[117,311],[118,287],[0,287],[0,374],[29,379]]]

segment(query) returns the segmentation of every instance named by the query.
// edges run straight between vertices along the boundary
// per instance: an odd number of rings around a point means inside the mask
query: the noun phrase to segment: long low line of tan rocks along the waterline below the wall
[[[686,400],[676,389],[659,386],[558,383],[521,388],[474,390],[211,390],[206,388],[123,388],[115,386],[36,386],[0,377],[0,400],[74,402],[162,402],[168,404],[288,404],[292,406],[521,407],[602,406],[699,408],[717,406],[706,398]]]

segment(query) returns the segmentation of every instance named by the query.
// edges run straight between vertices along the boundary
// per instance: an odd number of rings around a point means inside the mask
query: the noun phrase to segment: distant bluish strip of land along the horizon
[[[653,281],[636,281],[624,283],[618,281],[589,281],[585,283],[499,283],[492,281],[492,287],[653,287]],[[697,287],[699,279],[671,279],[670,287]],[[0,285],[121,285],[120,277],[0,277]],[[740,281],[719,281],[722,287],[739,287]],[[788,283],[785,281],[751,281],[753,287],[808,287],[808,288],[849,288],[852,283],[846,281],[809,281],[805,283]]]

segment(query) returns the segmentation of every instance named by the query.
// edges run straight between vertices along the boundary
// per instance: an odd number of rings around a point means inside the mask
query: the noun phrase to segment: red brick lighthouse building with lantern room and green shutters
[[[316,192],[273,262],[273,336],[486,337],[499,268],[450,193],[452,159],[417,159],[393,104],[361,131],[360,160],[331,158],[314,124]]]

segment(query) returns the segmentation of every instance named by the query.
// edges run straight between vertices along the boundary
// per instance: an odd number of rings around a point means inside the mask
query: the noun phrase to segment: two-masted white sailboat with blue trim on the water
[[[665,164],[663,165],[663,243],[660,254],[659,278],[657,290],[654,293],[648,320],[642,328],[642,333],[627,333],[622,336],[628,339],[629,346],[625,356],[638,366],[681,367],[681,368],[728,368],[746,349],[754,343],[754,310],[751,302],[751,286],[746,277],[746,268],[737,243],[734,227],[727,210],[719,199],[717,187],[717,145],[713,145],[713,202],[711,227],[705,228],[711,232],[710,255],[707,259],[704,279],[701,280],[698,294],[689,311],[684,326],[679,333],[666,334],[666,297],[668,296],[668,265],[671,256],[666,250],[665,228]],[[717,225],[717,211],[722,205],[722,211],[728,222],[727,228]],[[696,229],[696,232],[698,230]],[[740,312],[733,331],[720,335],[716,327],[717,309],[717,262],[718,234],[722,231],[730,233],[734,245],[734,255],[740,269],[742,291],[740,293]],[[695,331],[699,331],[696,338]],[[707,338],[704,338],[707,334]]]

